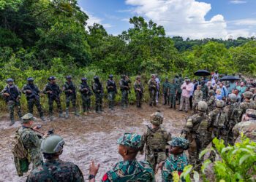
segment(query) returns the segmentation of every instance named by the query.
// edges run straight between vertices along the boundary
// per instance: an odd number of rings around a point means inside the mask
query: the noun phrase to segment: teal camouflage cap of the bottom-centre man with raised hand
[[[129,146],[134,149],[140,149],[141,136],[136,133],[124,133],[124,136],[117,140],[119,145]]]

